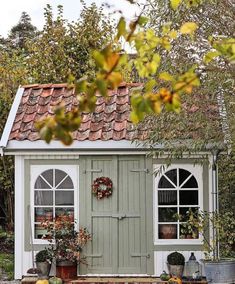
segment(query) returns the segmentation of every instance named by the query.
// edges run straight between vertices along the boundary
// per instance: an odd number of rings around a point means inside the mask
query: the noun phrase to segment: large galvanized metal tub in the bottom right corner
[[[235,283],[235,259],[203,261],[206,279],[211,283]]]

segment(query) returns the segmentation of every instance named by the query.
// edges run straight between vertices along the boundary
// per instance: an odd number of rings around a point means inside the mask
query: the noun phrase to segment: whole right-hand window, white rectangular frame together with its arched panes
[[[167,220],[167,214],[165,213],[182,213],[186,208],[192,208],[196,210],[203,210],[203,171],[201,165],[192,165],[192,164],[172,164],[169,167],[165,167],[162,170],[163,165],[154,165],[154,171],[157,172],[156,176],[154,176],[154,244],[155,245],[169,245],[169,244],[202,244],[202,236],[199,234],[197,239],[187,239],[182,237],[181,235],[181,227],[182,223],[179,220],[169,219]],[[180,171],[181,169],[181,171]],[[181,177],[179,177],[181,172]],[[188,172],[188,173],[187,173]],[[183,173],[183,174],[182,174]],[[167,176],[168,175],[168,176]],[[175,176],[174,181],[172,181],[173,176]],[[169,182],[169,187],[164,185],[162,187],[159,183],[162,179],[165,178]],[[170,178],[169,178],[170,177]],[[180,180],[179,180],[180,178]],[[187,181],[189,179],[195,179],[197,186],[187,188]],[[186,186],[185,186],[186,185]],[[186,202],[180,202],[183,197],[184,191],[190,196],[190,191],[192,191],[192,198],[194,198],[196,191],[198,192],[198,202],[196,204],[195,200],[192,200],[191,204],[182,204]],[[166,195],[168,198],[168,202],[161,202],[160,198],[162,195]],[[172,197],[174,196],[174,197]],[[188,198],[187,198],[188,199]],[[172,203],[171,203],[172,200]],[[189,202],[190,203],[190,202]],[[170,215],[170,214],[169,214]],[[163,219],[163,217],[166,219]],[[166,238],[162,237],[162,228],[163,224],[165,227],[174,227],[175,235],[174,237],[168,236]],[[173,233],[174,234],[174,233]]]

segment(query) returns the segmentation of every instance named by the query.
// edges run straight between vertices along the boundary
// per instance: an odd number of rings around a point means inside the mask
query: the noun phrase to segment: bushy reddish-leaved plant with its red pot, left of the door
[[[82,248],[91,240],[86,228],[75,230],[70,216],[57,217],[54,222],[43,222],[47,230],[46,238],[50,242],[47,250],[53,255],[56,263],[56,276],[72,279],[77,276],[77,265],[85,262],[81,257]]]

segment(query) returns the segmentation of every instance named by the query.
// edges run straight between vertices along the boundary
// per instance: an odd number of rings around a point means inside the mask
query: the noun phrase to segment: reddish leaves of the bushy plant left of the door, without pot
[[[91,235],[86,228],[76,231],[74,223],[66,215],[60,216],[54,222],[45,221],[42,225],[47,230],[45,238],[50,242],[47,250],[57,262],[85,261],[85,257],[81,257],[82,248],[91,240]]]

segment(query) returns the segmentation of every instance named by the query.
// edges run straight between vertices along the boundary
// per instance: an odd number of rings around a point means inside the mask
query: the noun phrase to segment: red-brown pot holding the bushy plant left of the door
[[[63,260],[56,262],[56,277],[74,279],[77,277],[77,263]]]

